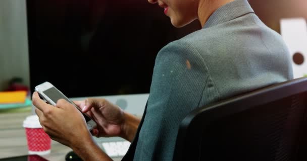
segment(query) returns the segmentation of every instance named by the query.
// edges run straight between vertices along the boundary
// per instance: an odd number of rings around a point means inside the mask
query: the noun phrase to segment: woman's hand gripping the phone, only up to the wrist
[[[92,141],[84,117],[72,104],[61,99],[52,106],[41,100],[36,92],[32,101],[39,122],[50,138],[72,148]]]

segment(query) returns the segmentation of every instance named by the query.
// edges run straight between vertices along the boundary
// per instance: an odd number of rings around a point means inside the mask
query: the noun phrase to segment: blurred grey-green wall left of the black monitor
[[[0,1],[0,91],[14,77],[30,85],[26,2]]]

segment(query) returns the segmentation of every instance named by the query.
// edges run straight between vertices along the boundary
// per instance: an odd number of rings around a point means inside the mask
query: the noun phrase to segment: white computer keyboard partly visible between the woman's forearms
[[[102,147],[105,149],[105,152],[110,157],[119,157],[124,156],[128,151],[130,146],[129,141],[112,141],[112,142],[103,142],[101,143]]]

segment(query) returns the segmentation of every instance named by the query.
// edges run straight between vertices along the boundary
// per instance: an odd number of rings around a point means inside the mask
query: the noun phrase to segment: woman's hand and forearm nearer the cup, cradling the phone
[[[36,92],[32,101],[39,122],[50,138],[71,147],[83,160],[112,160],[95,144],[84,117],[74,105],[63,99],[56,106],[46,104]]]

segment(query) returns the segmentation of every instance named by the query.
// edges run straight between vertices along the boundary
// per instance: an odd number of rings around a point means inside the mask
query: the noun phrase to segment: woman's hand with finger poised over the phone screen
[[[91,131],[96,137],[120,136],[132,141],[140,120],[120,107],[105,99],[86,99],[74,101],[96,123],[97,127]]]

